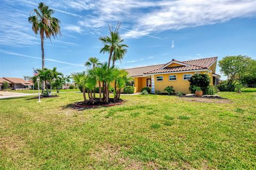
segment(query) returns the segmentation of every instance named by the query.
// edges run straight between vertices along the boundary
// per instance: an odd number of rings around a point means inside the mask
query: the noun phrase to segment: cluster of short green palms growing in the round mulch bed
[[[96,99],[102,103],[109,103],[109,91],[111,83],[114,84],[114,102],[120,99],[121,89],[125,87],[126,82],[132,79],[128,77],[125,70],[116,67],[108,67],[108,63],[100,63],[98,58],[90,57],[85,63],[89,66],[87,71],[71,74],[76,84],[82,87],[84,103],[94,104]],[[95,87],[99,88],[99,98],[95,97]],[[86,98],[86,91],[89,99]]]

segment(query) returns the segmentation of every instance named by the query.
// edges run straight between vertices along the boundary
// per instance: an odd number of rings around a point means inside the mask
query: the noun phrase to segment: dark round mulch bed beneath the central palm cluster
[[[119,99],[117,101],[114,102],[114,99],[113,98],[109,98],[109,103],[103,103],[102,101],[100,101],[99,98],[95,98],[94,99],[94,104],[92,104],[90,101],[84,103],[84,101],[79,101],[75,104],[75,106],[77,107],[100,107],[100,106],[105,106],[105,107],[108,107],[108,106],[115,106],[115,105],[122,105],[124,103],[124,100],[122,99]]]

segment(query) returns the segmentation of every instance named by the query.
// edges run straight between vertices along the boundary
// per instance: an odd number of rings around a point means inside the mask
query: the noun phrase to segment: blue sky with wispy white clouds
[[[32,75],[40,68],[39,37],[27,18],[41,1],[0,4],[0,77]],[[100,54],[100,36],[108,24],[122,22],[129,45],[121,68],[227,55],[256,58],[256,1],[44,1],[61,21],[62,36],[45,40],[45,66],[64,74],[85,70],[90,56]],[[219,73],[219,68],[217,68]],[[225,77],[222,77],[225,79]]]

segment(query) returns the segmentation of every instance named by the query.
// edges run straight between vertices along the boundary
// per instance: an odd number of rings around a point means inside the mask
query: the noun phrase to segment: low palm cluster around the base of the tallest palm
[[[57,92],[62,88],[62,84],[65,84],[66,81],[69,81],[69,77],[64,77],[61,72],[57,71],[57,67],[53,67],[53,69],[37,69],[38,74],[33,77],[34,84],[37,82],[37,78],[46,84],[45,92],[42,91],[43,95],[51,96],[52,88],[56,88]],[[48,89],[50,87],[50,89]]]

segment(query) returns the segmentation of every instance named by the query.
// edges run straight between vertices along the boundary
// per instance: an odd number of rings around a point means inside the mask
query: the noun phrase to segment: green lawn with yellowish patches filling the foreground
[[[122,96],[78,110],[79,93],[0,100],[0,169],[255,169],[256,88],[228,103]],[[213,100],[220,101],[220,100]]]

